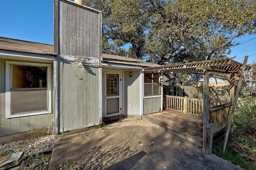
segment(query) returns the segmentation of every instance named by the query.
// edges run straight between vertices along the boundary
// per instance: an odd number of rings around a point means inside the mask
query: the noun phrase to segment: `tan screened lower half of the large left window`
[[[47,89],[12,89],[11,114],[47,111]]]

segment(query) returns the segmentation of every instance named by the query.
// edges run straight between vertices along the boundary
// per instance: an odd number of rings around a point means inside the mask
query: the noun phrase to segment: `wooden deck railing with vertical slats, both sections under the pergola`
[[[195,115],[197,117],[203,117],[203,100],[196,98],[187,98],[179,96],[168,96],[164,98],[166,109],[179,111],[184,114]],[[225,101],[209,101],[209,123],[214,124],[214,133],[217,133],[228,127],[228,115],[229,109],[232,106]]]

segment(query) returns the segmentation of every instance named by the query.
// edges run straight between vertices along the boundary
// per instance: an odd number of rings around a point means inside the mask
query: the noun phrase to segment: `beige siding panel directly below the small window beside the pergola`
[[[144,98],[143,99],[143,114],[148,115],[161,111],[161,97]]]

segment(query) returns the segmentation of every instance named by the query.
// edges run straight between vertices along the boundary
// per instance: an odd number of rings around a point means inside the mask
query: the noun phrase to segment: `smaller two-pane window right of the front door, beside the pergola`
[[[160,74],[144,73],[144,96],[161,95]]]

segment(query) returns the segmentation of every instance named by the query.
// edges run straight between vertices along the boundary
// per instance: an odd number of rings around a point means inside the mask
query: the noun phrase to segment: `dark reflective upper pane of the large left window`
[[[47,67],[11,66],[11,88],[46,88]]]

